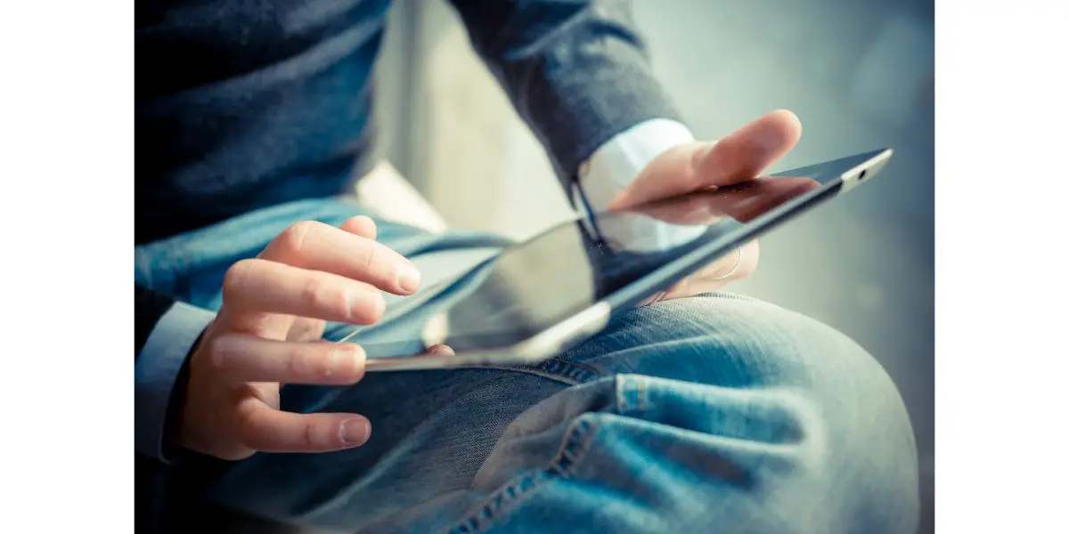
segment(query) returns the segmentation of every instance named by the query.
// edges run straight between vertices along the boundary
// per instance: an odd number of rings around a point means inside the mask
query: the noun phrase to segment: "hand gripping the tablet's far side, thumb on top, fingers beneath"
[[[802,123],[797,116],[790,111],[779,110],[734,130],[719,141],[695,142],[670,148],[650,161],[613,199],[608,208],[626,209],[669,197],[756,178],[790,152],[801,137]],[[729,252],[676,283],[655,300],[718,290],[728,283],[753,273],[757,269],[759,255],[757,241],[750,241],[740,252]]]

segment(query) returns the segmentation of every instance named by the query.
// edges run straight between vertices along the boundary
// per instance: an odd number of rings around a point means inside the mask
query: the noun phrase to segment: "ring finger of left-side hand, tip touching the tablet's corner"
[[[359,345],[285,342],[223,334],[213,342],[210,361],[232,383],[285,382],[350,384],[363,378],[366,355]]]

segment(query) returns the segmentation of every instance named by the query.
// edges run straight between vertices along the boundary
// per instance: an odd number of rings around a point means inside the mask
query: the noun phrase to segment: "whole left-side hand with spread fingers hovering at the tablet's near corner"
[[[378,289],[410,295],[418,285],[416,267],[375,241],[368,217],[290,226],[227,271],[222,308],[190,356],[179,444],[230,460],[363,444],[366,418],[281,411],[279,387],[360,380],[363,350],[323,341],[326,321],[373,324],[385,310]]]

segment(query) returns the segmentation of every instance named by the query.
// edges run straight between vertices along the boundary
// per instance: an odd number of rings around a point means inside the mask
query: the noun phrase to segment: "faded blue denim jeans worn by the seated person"
[[[361,213],[321,200],[248,214],[139,248],[138,280],[217,309],[227,267],[286,225],[340,224]],[[505,245],[376,222],[379,240],[423,268],[424,287],[448,287]],[[429,302],[356,341],[416,343]],[[345,333],[335,325],[326,336]],[[617,313],[604,331],[539,365],[286,386],[282,406],[365,414],[372,437],[357,449],[238,462],[189,454],[172,470],[200,473],[199,494],[220,505],[341,532],[916,529],[916,447],[883,368],[843,334],[742,296]]]

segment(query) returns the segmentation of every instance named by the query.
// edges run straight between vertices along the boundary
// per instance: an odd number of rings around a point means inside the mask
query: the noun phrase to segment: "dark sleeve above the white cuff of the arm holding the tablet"
[[[681,122],[652,76],[628,2],[453,3],[566,184],[624,130],[654,119]]]

